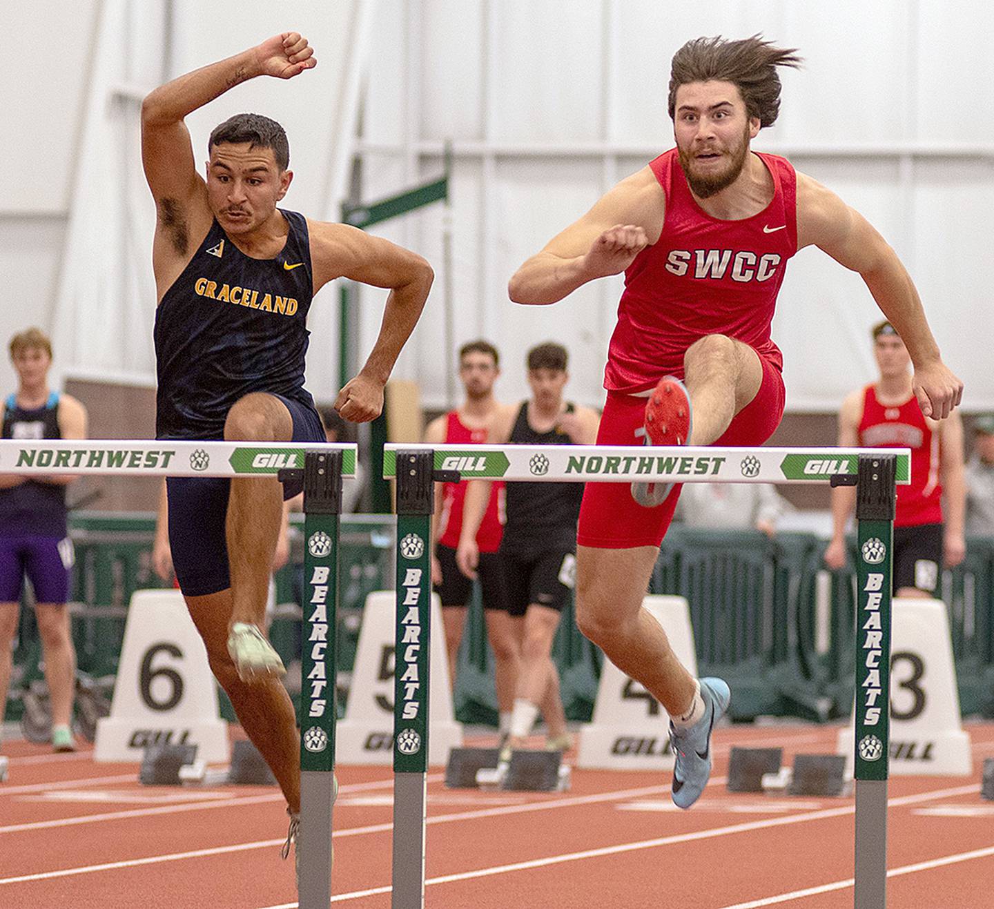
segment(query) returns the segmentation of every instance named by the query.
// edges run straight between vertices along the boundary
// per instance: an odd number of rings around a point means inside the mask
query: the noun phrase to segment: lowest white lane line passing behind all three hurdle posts
[[[913,796],[901,796],[897,799],[888,800],[889,807],[900,807],[903,805],[913,805],[917,802],[928,802],[931,799],[946,799],[954,795],[965,795],[973,792],[976,786],[959,786],[954,789],[938,789],[932,792],[918,793]],[[567,861],[580,861],[585,858],[599,858],[604,855],[615,855],[620,852],[631,852],[638,849],[651,849],[663,845],[673,845],[681,842],[692,842],[698,839],[709,839],[713,836],[725,836],[732,833],[748,833],[749,831],[766,830],[773,827],[785,827],[791,824],[802,824],[807,821],[821,821],[826,818],[838,818],[844,815],[851,815],[856,811],[855,805],[846,805],[840,808],[825,809],[823,811],[810,812],[806,815],[793,815],[789,818],[767,818],[762,821],[750,821],[745,824],[734,824],[729,827],[711,828],[703,831],[691,833],[676,833],[671,836],[660,836],[657,839],[643,839],[638,842],[625,842],[620,845],[601,846],[595,849],[583,849],[580,852],[567,852],[562,855],[550,855],[547,858],[535,858],[530,861],[519,861],[513,864],[496,865],[490,868],[478,868],[474,871],[462,871],[457,874],[446,874],[441,877],[430,877],[424,881],[425,885],[446,884],[460,880],[470,880],[478,877],[489,877],[494,874],[506,874],[511,871],[527,871],[532,868],[542,868],[548,865],[560,864]],[[430,823],[430,819],[429,819]],[[0,883],[3,883],[0,880]],[[382,893],[390,893],[393,888],[372,887],[368,890],[356,890],[352,893],[339,893],[331,898],[333,903],[345,902],[347,900],[362,899],[366,896],[376,896]],[[278,906],[267,906],[265,909],[295,909],[296,903],[281,903]]]

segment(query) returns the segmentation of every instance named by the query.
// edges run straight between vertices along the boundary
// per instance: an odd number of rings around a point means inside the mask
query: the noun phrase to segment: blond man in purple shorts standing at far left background
[[[5,439],[84,439],[86,409],[75,397],[49,387],[52,343],[40,329],[29,328],[10,342],[10,359],[18,388],[4,403]],[[52,747],[73,751],[71,722],[76,685],[76,651],[70,634],[69,538],[66,475],[0,475],[0,726],[12,671],[11,644],[24,579],[35,591],[35,615],[42,639],[45,678],[52,703]]]

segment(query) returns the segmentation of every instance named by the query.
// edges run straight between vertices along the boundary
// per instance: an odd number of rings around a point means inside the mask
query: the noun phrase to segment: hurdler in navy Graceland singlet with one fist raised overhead
[[[354,227],[278,211],[293,174],[275,121],[239,114],[217,127],[206,180],[183,122],[249,78],[292,78],[316,65],[307,40],[286,32],[168,82],[142,103],[142,162],[157,210],[152,265],[163,436],[324,441],[303,389],[304,314],[311,297],[341,276],[390,295],[369,360],[335,408],[355,422],[383,408],[384,385],[431,286],[427,262]],[[173,563],[211,668],[295,814],[293,706],[277,678],[282,664],[261,631],[283,491],[273,478],[193,480],[170,483],[169,496]]]

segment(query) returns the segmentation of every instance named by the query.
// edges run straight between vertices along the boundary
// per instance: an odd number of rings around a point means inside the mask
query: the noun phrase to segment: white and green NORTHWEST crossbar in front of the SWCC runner
[[[433,450],[434,469],[463,480],[630,483],[827,483],[856,474],[861,454],[896,454],[898,483],[911,482],[907,448],[711,448],[606,445],[398,445],[384,448],[384,477],[398,450]]]

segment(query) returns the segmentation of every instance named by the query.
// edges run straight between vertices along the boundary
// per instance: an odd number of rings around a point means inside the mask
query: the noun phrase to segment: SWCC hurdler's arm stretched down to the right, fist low
[[[914,365],[912,386],[921,412],[942,419],[963,383],[942,363],[911,275],[883,236],[855,209],[810,177],[797,175],[797,245],[816,245],[859,272],[874,300],[905,342]]]

